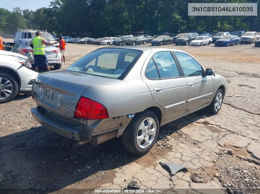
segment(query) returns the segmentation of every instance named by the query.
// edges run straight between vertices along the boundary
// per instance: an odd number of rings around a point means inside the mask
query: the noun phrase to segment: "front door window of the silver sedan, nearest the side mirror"
[[[203,75],[203,70],[200,64],[190,55],[182,52],[174,52],[182,66],[184,76]]]

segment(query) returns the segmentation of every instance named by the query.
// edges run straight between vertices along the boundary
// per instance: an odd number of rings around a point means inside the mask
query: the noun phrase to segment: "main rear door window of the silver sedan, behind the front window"
[[[177,64],[169,51],[158,52],[153,56],[161,78],[180,77]]]

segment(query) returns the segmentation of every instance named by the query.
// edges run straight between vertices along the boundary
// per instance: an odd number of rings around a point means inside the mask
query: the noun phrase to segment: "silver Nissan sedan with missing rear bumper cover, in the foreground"
[[[34,118],[60,135],[98,145],[122,136],[127,150],[146,154],[159,128],[202,108],[217,114],[227,82],[186,52],[106,47],[66,70],[39,74]]]

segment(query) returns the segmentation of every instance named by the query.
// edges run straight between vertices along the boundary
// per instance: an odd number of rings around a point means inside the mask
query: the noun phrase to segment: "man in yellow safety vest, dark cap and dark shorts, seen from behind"
[[[53,44],[57,44],[58,42],[50,43],[47,42],[44,38],[41,37],[41,32],[37,31],[35,33],[36,37],[32,40],[31,46],[34,49],[34,67],[35,70],[38,71],[38,67],[43,66],[46,67],[48,71],[50,71],[49,63],[47,61],[45,55],[45,44],[50,46]]]

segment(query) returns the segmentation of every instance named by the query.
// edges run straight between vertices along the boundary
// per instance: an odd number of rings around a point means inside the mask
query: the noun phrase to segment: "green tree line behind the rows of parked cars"
[[[192,3],[258,3],[258,16],[188,16],[190,0],[53,0],[36,11],[0,8],[0,33],[38,29],[73,37],[116,36],[144,31],[257,31],[260,0],[194,0]]]

